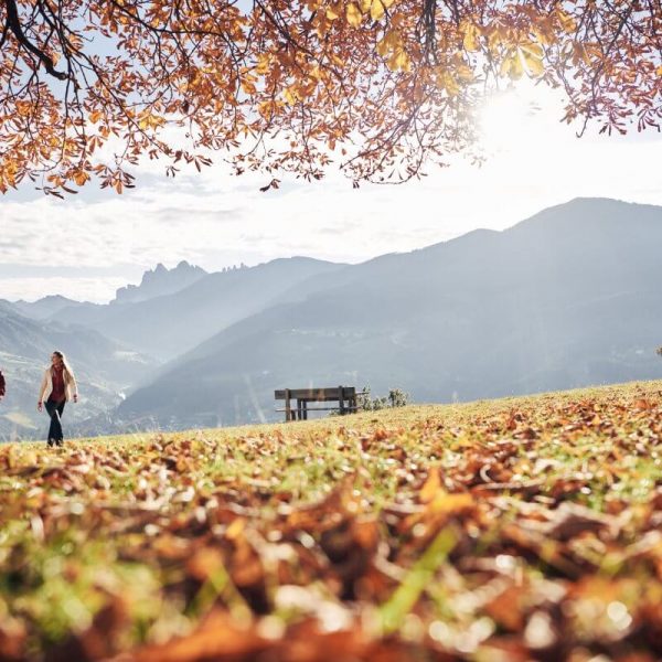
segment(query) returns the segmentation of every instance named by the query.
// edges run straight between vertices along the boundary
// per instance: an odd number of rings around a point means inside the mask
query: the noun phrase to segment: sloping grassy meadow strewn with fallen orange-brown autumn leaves
[[[662,659],[662,382],[0,447],[0,661]]]

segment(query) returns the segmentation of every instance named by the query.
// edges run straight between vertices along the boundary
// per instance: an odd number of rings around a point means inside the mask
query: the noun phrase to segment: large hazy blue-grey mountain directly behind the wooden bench
[[[280,417],[274,389],[449,402],[660,378],[662,207],[579,199],[504,231],[312,276],[163,366],[122,420]]]

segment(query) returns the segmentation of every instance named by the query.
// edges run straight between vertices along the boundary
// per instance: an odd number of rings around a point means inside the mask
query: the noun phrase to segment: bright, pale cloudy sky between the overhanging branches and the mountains
[[[137,172],[122,195],[88,186],[64,201],[28,188],[0,197],[0,298],[63,295],[105,302],[158,263],[209,271],[306,255],[359,263],[448,241],[477,227],[504,229],[577,196],[662,205],[662,136],[583,138],[560,124],[560,98],[522,85],[480,115],[482,167],[462,157],[401,185],[363,184],[329,172],[321,182],[233,178],[221,167],[164,175]]]

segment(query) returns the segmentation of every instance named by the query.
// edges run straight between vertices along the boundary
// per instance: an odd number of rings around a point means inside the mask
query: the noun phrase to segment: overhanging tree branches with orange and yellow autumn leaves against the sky
[[[522,76],[566,121],[662,116],[660,0],[0,0],[0,58],[3,192],[121,192],[145,154],[403,181]]]

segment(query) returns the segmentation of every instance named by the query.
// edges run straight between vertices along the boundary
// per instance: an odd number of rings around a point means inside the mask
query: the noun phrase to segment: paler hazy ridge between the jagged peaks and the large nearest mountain
[[[307,257],[276,259],[256,267],[209,274],[178,292],[146,301],[65,312],[71,322],[96,329],[137,351],[170,360],[271,306],[311,276],[343,267]]]

